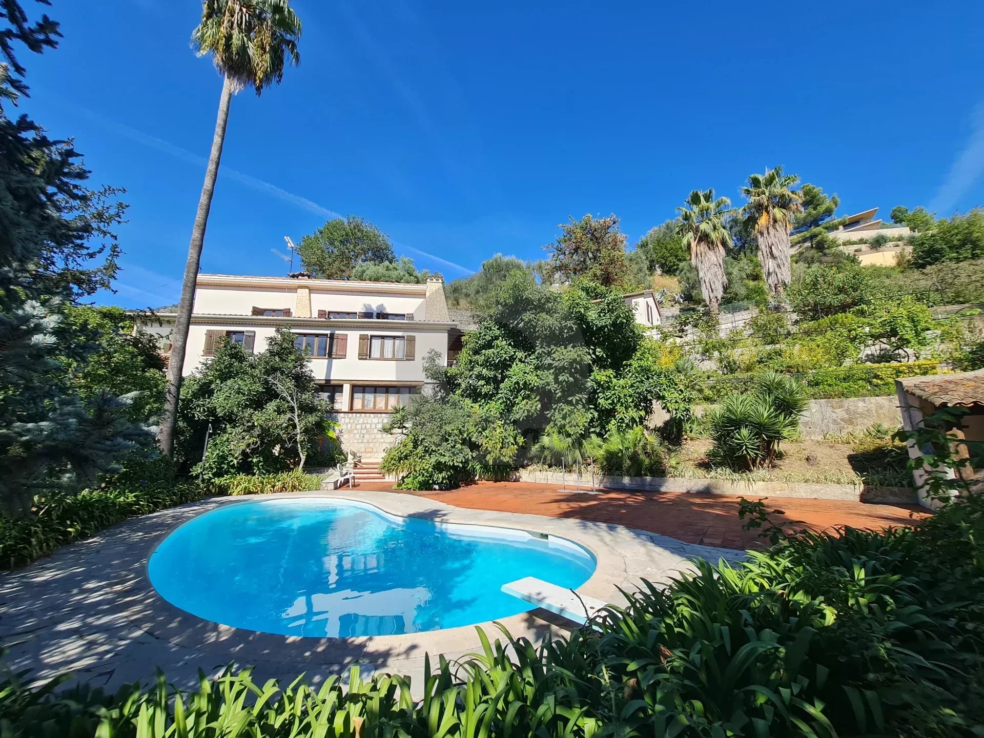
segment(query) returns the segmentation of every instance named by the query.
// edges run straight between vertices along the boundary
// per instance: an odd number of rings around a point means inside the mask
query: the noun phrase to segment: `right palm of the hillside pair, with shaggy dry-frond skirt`
[[[748,203],[745,219],[759,243],[759,261],[769,292],[782,294],[792,278],[789,260],[789,229],[792,216],[803,210],[803,195],[792,189],[799,182],[795,174],[783,174],[782,167],[751,174],[741,194]]]

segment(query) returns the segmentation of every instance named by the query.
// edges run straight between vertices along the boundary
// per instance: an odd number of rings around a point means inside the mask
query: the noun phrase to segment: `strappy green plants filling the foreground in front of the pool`
[[[931,564],[931,565],[930,565]],[[533,646],[484,641],[394,676],[321,686],[202,675],[115,695],[0,684],[12,736],[601,738],[979,736],[984,497],[922,528],[792,536],[746,564],[699,562]],[[483,636],[484,638],[484,636]],[[431,666],[434,668],[432,669]]]

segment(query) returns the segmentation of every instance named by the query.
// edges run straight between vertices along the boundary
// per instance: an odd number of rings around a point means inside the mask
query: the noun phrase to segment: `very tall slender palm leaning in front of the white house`
[[[301,22],[290,9],[288,0],[205,0],[202,23],[192,33],[192,43],[199,54],[212,54],[215,69],[222,76],[222,93],[218,98],[218,117],[212,154],[205,171],[205,184],[198,201],[198,214],[188,246],[181,301],[171,332],[171,354],[167,367],[167,396],[164,400],[164,420],[157,442],[167,456],[174,451],[177,427],[178,399],[181,395],[181,369],[184,365],[191,323],[195,281],[202,260],[202,244],[212,208],[218,163],[222,158],[225,125],[229,119],[232,95],[250,87],[259,95],[283,79],[283,69],[289,59],[297,65],[297,39]]]

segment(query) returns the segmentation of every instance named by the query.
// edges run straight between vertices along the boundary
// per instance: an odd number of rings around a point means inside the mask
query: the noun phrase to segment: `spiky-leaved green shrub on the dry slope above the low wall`
[[[734,395],[707,411],[714,441],[711,456],[731,466],[771,466],[779,443],[798,430],[806,402],[801,382],[776,372],[764,373],[754,394]]]

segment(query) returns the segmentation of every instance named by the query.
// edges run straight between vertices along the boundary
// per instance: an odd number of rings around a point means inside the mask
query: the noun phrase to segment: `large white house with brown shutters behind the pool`
[[[168,338],[173,313],[145,330]],[[452,322],[444,280],[425,284],[292,277],[199,275],[183,373],[193,372],[227,338],[262,351],[279,327],[311,357],[321,393],[338,413],[346,450],[380,459],[393,443],[379,427],[424,385],[423,358],[436,350],[447,361],[461,335]]]

